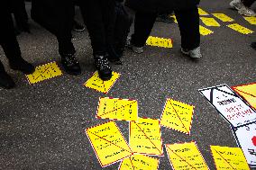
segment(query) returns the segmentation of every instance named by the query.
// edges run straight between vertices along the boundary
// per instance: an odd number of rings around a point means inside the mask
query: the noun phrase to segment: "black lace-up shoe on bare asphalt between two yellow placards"
[[[69,75],[78,76],[81,74],[80,65],[73,54],[61,55],[61,64]]]

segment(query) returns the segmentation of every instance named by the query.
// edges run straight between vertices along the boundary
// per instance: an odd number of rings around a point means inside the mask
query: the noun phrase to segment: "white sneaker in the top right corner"
[[[230,2],[230,5],[238,11],[239,14],[245,15],[245,16],[256,16],[256,13],[252,11],[250,8],[244,6],[242,4],[241,0],[233,0]]]

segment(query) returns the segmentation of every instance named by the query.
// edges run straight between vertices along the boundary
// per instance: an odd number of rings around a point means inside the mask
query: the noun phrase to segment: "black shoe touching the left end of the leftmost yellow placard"
[[[14,70],[23,72],[23,74],[30,75],[34,72],[35,68],[32,64],[28,63],[23,58],[17,58],[14,61],[9,61],[10,67]]]

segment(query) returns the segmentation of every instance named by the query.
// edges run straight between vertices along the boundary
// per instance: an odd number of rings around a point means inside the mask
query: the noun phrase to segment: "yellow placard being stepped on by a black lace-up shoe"
[[[87,80],[85,86],[88,88],[95,89],[98,92],[107,94],[110,88],[114,85],[115,81],[119,78],[120,74],[112,72],[112,77],[110,80],[103,81],[96,71],[95,74]]]

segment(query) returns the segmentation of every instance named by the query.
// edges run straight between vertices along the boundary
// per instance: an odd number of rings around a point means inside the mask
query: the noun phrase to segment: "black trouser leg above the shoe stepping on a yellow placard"
[[[114,31],[115,0],[80,1],[80,9],[89,32],[94,55],[105,55]]]

